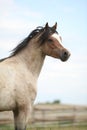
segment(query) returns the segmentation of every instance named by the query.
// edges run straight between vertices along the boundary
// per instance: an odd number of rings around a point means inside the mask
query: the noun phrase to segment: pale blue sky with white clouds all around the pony
[[[58,23],[67,62],[46,57],[38,80],[37,102],[60,99],[87,105],[87,1],[0,0],[0,58],[8,56],[37,26]]]

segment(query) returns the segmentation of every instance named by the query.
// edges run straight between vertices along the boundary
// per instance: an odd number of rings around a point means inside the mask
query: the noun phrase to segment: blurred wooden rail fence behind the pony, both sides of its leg
[[[33,108],[31,126],[87,125],[87,106],[38,104]],[[11,112],[0,113],[0,124],[13,123]]]

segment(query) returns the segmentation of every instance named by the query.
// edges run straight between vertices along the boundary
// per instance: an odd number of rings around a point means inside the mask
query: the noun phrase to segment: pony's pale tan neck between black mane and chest
[[[38,43],[31,40],[30,43],[16,56],[22,63],[26,64],[27,68],[34,76],[39,76],[45,55],[42,53]]]

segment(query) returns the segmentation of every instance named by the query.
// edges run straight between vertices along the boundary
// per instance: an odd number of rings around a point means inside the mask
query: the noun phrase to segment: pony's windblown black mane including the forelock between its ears
[[[39,41],[40,41],[40,45],[42,45],[47,39],[48,37],[53,34],[53,33],[57,33],[57,31],[53,28],[53,27],[42,27],[39,26],[37,27],[35,30],[33,30],[20,44],[18,44],[13,50],[11,55],[8,57],[12,57],[14,55],[16,55],[18,52],[20,52],[23,48],[25,48],[29,41],[34,38],[37,34],[42,33],[42,35],[39,37]],[[3,60],[5,60],[7,58],[1,59],[0,62],[2,62]]]

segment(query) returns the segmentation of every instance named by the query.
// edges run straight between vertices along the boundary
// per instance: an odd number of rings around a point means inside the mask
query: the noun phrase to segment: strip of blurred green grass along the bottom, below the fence
[[[14,130],[12,125],[0,125],[0,130]],[[27,128],[27,130],[87,130],[86,126],[49,126],[49,127],[31,127]]]

